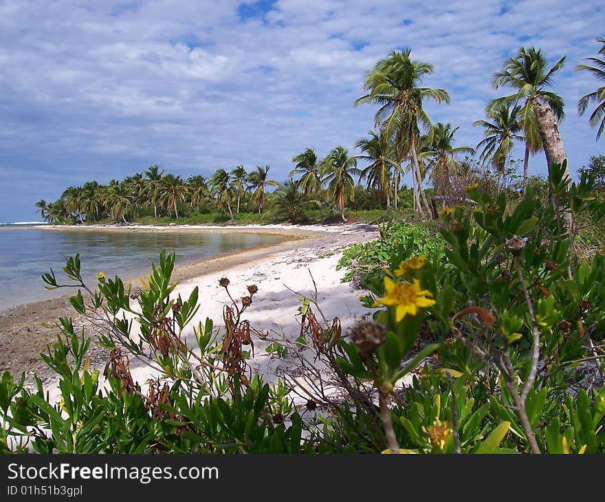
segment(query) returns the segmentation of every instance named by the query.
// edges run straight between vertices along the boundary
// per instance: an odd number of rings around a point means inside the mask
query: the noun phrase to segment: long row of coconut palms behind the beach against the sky
[[[576,70],[605,81],[605,39],[597,42],[602,44],[597,57],[586,58],[590,64],[577,65]],[[549,166],[566,158],[558,133],[564,101],[551,90],[553,75],[564,62],[562,57],[549,67],[546,56],[534,47],[522,48],[508,58],[503,69],[493,74],[492,85],[509,89],[509,94],[490,100],[485,118],[474,122],[475,127],[483,128],[483,139],[474,148],[454,146],[459,127],[433,124],[426,113],[423,105],[428,100],[450,102],[445,89],[421,87],[423,77],[432,73],[432,65],[412,60],[409,49],[393,51],[367,72],[366,94],[355,101],[355,106],[369,103],[378,107],[373,130],[355,144],[359,154],[336,146],[322,158],[307,148],[292,158],[294,168],[289,179],[281,183],[269,177],[269,166],[256,166],[250,173],[242,165],[231,171],[219,168],[210,177],[192,175],[184,179],[153,165],[107,185],[93,181],[70,186],[56,201],[40,200],[36,208],[45,221],[95,222],[109,218],[127,223],[128,218],[137,218],[152,208],[155,218],[178,219],[179,208],[184,206],[194,211],[217,210],[233,219],[234,210],[236,214],[242,210],[262,213],[267,188],[276,186],[273,204],[287,219],[296,219],[311,206],[322,214],[327,205],[347,221],[345,208],[353,201],[358,184],[364,184],[390,217],[391,206],[397,208],[399,191],[407,189],[401,184],[402,178],[410,173],[411,205],[419,217],[425,218],[431,214],[425,185],[432,186],[440,200],[463,199],[464,185],[476,175],[476,168],[487,166],[496,173],[498,189],[502,188],[516,142],[525,146],[521,187],[525,194],[530,155],[543,151]],[[593,103],[589,122],[597,127],[599,140],[605,129],[605,86],[582,96],[577,103],[578,113],[584,114]],[[360,168],[359,161],[366,166]]]

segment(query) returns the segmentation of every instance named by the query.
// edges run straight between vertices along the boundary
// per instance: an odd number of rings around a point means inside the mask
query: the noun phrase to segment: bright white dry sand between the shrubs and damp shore
[[[184,228],[185,226],[179,226]],[[149,228],[149,227],[144,227]],[[165,228],[165,227],[164,227]],[[196,227],[191,227],[196,228]],[[199,227],[197,227],[199,228]],[[208,227],[204,226],[203,229]],[[224,227],[217,227],[217,229]],[[269,331],[270,338],[276,337],[276,334],[283,334],[289,340],[295,340],[300,331],[298,320],[298,307],[300,306],[298,294],[290,291],[294,290],[304,296],[314,294],[314,281],[318,290],[318,301],[325,316],[331,320],[338,316],[342,323],[342,334],[347,334],[347,329],[355,323],[355,320],[371,311],[364,308],[360,303],[359,290],[353,290],[349,283],[342,283],[345,270],[336,270],[338,260],[342,256],[338,252],[342,245],[351,242],[362,242],[375,239],[377,232],[370,229],[365,224],[350,224],[343,226],[247,226],[238,227],[239,230],[248,228],[261,228],[287,234],[292,230],[319,230],[335,236],[338,234],[342,239],[329,239],[326,242],[320,237],[318,241],[301,244],[300,248],[272,254],[264,261],[256,259],[252,265],[236,265],[229,270],[212,272],[195,279],[190,279],[179,283],[173,293],[174,296],[181,295],[186,300],[194,287],[199,288],[198,301],[201,307],[192,319],[192,322],[184,330],[183,336],[188,341],[188,345],[193,340],[193,327],[199,322],[203,323],[206,318],[211,318],[214,322],[214,329],[219,329],[222,334],[223,329],[223,306],[230,303],[223,287],[219,285],[221,277],[227,277],[230,280],[229,290],[233,298],[239,299],[241,296],[248,295],[247,286],[256,285],[259,288],[258,293],[254,295],[254,302],[248,307],[242,318],[248,319],[253,329],[258,331]],[[270,251],[270,250],[269,250]],[[312,278],[311,278],[312,275]],[[289,289],[290,290],[289,290]],[[298,316],[297,316],[298,314]],[[319,316],[318,316],[319,318]],[[133,327],[136,323],[133,323]],[[253,373],[261,373],[266,381],[276,379],[276,371],[283,371],[288,367],[288,362],[281,358],[276,358],[265,352],[266,340],[254,337],[253,359],[248,360]],[[145,387],[145,382],[149,378],[157,377],[150,368],[135,359],[131,360],[131,373],[133,380]],[[58,393],[55,389],[50,389],[51,396]]]

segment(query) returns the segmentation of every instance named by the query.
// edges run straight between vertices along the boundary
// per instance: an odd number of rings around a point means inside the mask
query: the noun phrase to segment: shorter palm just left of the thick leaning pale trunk
[[[503,184],[507,158],[513,148],[514,140],[524,140],[518,134],[521,132],[521,106],[499,101],[494,107],[487,108],[487,120],[476,120],[474,126],[483,127],[483,140],[478,142],[476,149],[483,149],[479,160],[483,164],[488,161],[500,173],[500,187]],[[527,171],[523,172],[523,193],[527,186]]]

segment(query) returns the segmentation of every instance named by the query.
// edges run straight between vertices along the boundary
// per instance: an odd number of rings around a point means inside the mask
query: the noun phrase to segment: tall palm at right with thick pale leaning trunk
[[[558,128],[558,121],[564,116],[563,98],[547,91],[551,86],[553,73],[562,67],[564,61],[565,56],[547,69],[547,60],[541,50],[534,47],[525,50],[522,47],[515,57],[505,61],[504,69],[494,74],[492,82],[496,89],[503,85],[516,89],[514,94],[500,99],[522,102],[520,122],[528,143],[525,155],[528,155],[529,142],[536,140],[537,129],[542,149],[546,154],[549,173],[551,164],[561,164],[567,157]],[[536,146],[535,143],[533,146]],[[569,177],[569,168],[564,176]]]

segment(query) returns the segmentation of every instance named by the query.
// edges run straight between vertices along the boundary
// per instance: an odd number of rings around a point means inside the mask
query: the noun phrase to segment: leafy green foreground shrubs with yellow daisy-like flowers
[[[323,314],[320,292],[292,291],[298,338],[267,336],[246,319],[258,287],[225,275],[223,327],[206,319],[186,336],[201,306],[197,288],[173,294],[173,254],[162,252],[134,291],[102,274],[85,285],[79,257],[69,258],[72,306],[100,328],[107,363],[91,369],[87,334],[61,318],[57,342],[42,355],[61,399],[50,401],[39,380],[31,391],[5,373],[1,448],[605,452],[605,258],[580,257],[556,214],[597,222],[605,208],[594,177],[570,183],[565,173],[551,166],[557,204],[544,204],[530,185],[511,206],[505,192],[476,183],[467,190],[474,205],[423,226],[383,223],[379,239],[345,250],[341,266],[365,265],[360,301],[373,309],[346,332]],[[52,271],[44,280],[63,286]],[[263,382],[249,365],[261,343],[296,371]],[[157,376],[137,382],[133,359]]]

